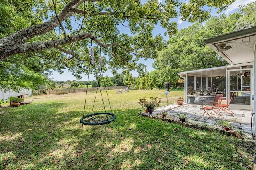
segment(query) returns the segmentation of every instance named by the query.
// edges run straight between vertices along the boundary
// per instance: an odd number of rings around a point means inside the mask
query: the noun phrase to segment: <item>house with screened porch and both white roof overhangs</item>
[[[204,42],[230,65],[180,72],[185,79],[185,102],[200,104],[217,94],[230,99],[230,109],[255,111],[256,26],[205,39]],[[195,94],[188,93],[194,89]],[[195,101],[190,101],[195,97]]]

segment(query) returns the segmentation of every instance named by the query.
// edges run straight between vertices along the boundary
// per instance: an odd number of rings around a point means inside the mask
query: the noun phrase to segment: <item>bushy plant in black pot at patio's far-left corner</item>
[[[146,107],[149,114],[154,111],[155,107],[159,106],[159,103],[161,103],[161,98],[158,97],[150,97],[150,101],[147,100],[146,96],[143,99],[139,99],[139,104],[142,107]]]

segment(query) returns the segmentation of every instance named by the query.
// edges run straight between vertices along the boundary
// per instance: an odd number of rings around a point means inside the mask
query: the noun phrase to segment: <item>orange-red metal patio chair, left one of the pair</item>
[[[204,104],[203,107],[200,108],[200,110],[204,110],[204,113],[202,114],[202,116],[204,116],[204,114],[207,114],[210,117],[212,117],[215,121],[216,121],[215,119],[216,117],[213,117],[212,115],[217,115],[217,117],[222,117],[224,119],[224,117],[219,114],[222,97],[223,97],[222,94],[218,94],[214,98],[214,101],[210,101],[210,103],[203,103]]]

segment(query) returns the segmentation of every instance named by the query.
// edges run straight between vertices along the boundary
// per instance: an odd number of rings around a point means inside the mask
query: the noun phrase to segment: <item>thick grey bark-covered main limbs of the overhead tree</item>
[[[88,2],[96,2],[101,0],[86,0]],[[33,42],[33,43],[26,43],[31,38],[34,38],[38,35],[45,34],[47,32],[50,32],[56,28],[56,26],[61,25],[61,22],[70,17],[74,13],[80,13],[80,14],[88,14],[84,10],[77,9],[78,6],[80,6],[84,0],[72,0],[70,3],[68,3],[63,10],[57,14],[55,17],[50,19],[47,22],[44,22],[42,24],[37,24],[34,26],[30,26],[28,28],[25,28],[23,30],[20,30],[10,36],[7,36],[5,38],[0,39],[0,60],[11,56],[15,54],[20,53],[26,53],[26,52],[36,52],[41,51],[44,49],[50,49],[53,47],[56,47],[58,45],[65,45],[70,42],[76,42],[80,40],[84,40],[85,38],[91,38],[93,39],[100,47],[110,47],[110,46],[118,46],[124,51],[128,53],[132,53],[128,49],[122,47],[121,45],[117,43],[112,44],[102,44],[97,38],[95,38],[92,34],[85,33],[85,34],[78,34],[75,36],[69,36],[62,39],[57,40],[49,40],[45,42]],[[55,6],[55,4],[54,4]],[[55,9],[56,10],[56,9]],[[118,14],[118,12],[100,12],[100,15],[115,15]],[[149,15],[148,15],[149,16]],[[133,16],[123,16],[123,17],[133,17]],[[140,16],[143,18],[142,16]],[[145,18],[145,19],[157,19],[157,18]],[[63,26],[62,29],[64,30]],[[132,53],[134,55],[138,55],[136,53]]]

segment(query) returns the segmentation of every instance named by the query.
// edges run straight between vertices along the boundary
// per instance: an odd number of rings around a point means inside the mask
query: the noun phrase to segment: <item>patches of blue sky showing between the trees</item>
[[[254,2],[256,0],[236,0],[236,2],[234,2],[233,4],[231,4],[230,6],[228,6],[228,8],[223,11],[221,14],[232,14],[234,12],[236,12],[238,10],[239,5],[246,5],[250,2]],[[212,9],[211,11],[211,16],[218,16],[220,14],[216,13],[217,10]],[[174,21],[177,22],[178,24],[178,30],[180,30],[181,28],[186,28],[188,26],[191,26],[193,23],[190,22],[183,22],[181,21],[179,18],[175,18]],[[120,30],[120,32],[122,32],[122,30]],[[166,32],[165,28],[162,28],[161,26],[156,26],[156,28],[153,31],[153,36],[157,35],[157,34],[161,34],[165,40],[168,40],[169,37],[168,36],[164,36],[164,32]],[[144,59],[140,59],[139,60],[140,63],[144,63],[145,65],[148,65],[147,70],[150,72],[153,70],[152,68],[152,64],[154,63],[153,59],[148,59],[148,60],[144,60]],[[151,65],[151,67],[150,67]],[[107,71],[105,73],[103,73],[104,76],[108,76],[108,77],[112,77],[113,75],[111,74],[110,71]],[[132,72],[133,76],[138,76],[138,73],[136,71]],[[86,81],[88,79],[88,75],[82,75],[82,81]],[[90,76],[92,77],[92,76]],[[68,72],[67,69],[64,70],[63,74],[59,74],[57,71],[53,71],[53,75],[51,75],[49,78],[56,80],[56,81],[67,81],[67,80],[76,80],[76,78],[70,73]],[[90,80],[95,80],[93,78],[91,78]],[[78,80],[79,81],[79,80]]]

